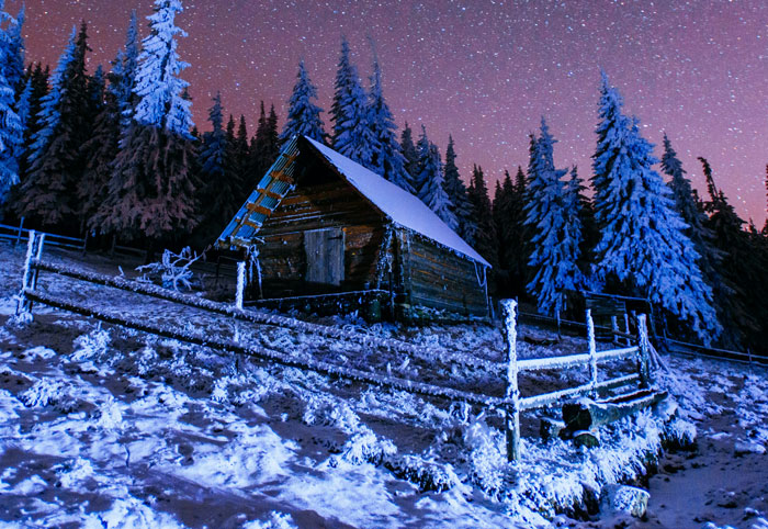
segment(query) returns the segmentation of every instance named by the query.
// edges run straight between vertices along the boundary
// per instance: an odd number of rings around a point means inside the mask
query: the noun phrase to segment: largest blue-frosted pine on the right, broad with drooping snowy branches
[[[653,146],[637,120],[622,114],[622,101],[602,74],[598,144],[592,162],[595,215],[601,233],[596,275],[617,280],[647,296],[705,342],[720,335],[712,291],[697,264],[699,255],[674,209],[669,188],[653,169]]]

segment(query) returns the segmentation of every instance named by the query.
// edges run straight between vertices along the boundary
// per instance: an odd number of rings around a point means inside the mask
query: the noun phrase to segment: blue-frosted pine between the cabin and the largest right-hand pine
[[[558,318],[567,308],[568,292],[581,289],[584,278],[577,266],[581,241],[578,189],[562,182],[567,171],[555,169],[555,143],[542,117],[529,173],[526,225],[533,248],[529,260],[533,279],[528,290],[541,314]]]

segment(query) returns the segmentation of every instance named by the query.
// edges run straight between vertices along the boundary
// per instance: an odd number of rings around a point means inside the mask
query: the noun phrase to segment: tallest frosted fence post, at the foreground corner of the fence
[[[507,348],[507,387],[505,391],[507,435],[507,461],[520,459],[520,390],[518,387],[518,334],[515,323],[517,302],[515,300],[501,300],[501,316],[504,326],[501,331]]]

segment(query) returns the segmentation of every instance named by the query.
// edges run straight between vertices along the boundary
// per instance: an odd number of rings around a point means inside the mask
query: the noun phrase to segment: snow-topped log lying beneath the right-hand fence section
[[[563,405],[563,421],[571,431],[597,428],[665,399],[667,392],[640,390],[602,401],[581,398]]]

